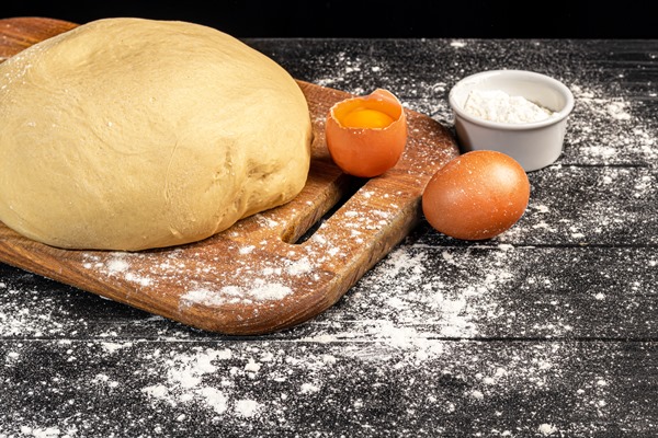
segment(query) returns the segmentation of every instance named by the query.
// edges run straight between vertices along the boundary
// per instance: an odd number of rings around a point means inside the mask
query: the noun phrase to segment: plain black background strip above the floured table
[[[61,1],[2,0],[0,16],[84,23],[143,16],[238,37],[657,38],[650,2],[633,1]]]

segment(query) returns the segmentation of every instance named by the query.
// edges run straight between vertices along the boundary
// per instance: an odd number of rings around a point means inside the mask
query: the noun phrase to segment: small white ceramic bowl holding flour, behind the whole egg
[[[470,91],[502,91],[552,111],[541,122],[491,122],[464,110]],[[561,154],[574,94],[561,82],[524,70],[491,70],[466,77],[450,91],[457,141],[464,152],[496,150],[517,160],[526,172],[553,164]]]

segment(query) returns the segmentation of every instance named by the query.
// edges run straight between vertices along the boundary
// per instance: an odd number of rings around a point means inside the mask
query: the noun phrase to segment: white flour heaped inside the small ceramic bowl
[[[500,90],[473,90],[464,103],[468,114],[490,122],[532,123],[553,115],[549,110],[522,96],[512,96]]]

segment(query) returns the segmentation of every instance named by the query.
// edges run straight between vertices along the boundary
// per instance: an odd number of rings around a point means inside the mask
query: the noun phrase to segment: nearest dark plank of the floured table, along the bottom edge
[[[0,357],[9,436],[650,437],[658,415],[657,343],[63,339]]]

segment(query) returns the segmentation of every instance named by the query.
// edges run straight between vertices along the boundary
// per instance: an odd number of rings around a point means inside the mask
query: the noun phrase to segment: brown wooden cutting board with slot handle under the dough
[[[0,61],[75,26],[0,20]],[[426,184],[458,149],[444,126],[407,111],[409,139],[398,164],[367,181],[344,175],[331,162],[324,127],[329,107],[352,95],[298,83],[314,142],[307,185],[291,203],[194,244],[136,253],[55,249],[0,222],[0,261],[224,334],[271,333],[325,311],[416,226]]]

